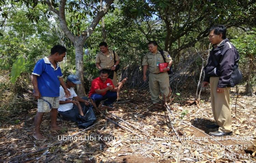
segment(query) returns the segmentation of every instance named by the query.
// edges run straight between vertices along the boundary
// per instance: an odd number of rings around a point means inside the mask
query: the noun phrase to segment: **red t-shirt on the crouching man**
[[[89,92],[89,97],[96,93],[95,90],[97,89],[105,89],[108,86],[113,86],[113,88],[115,88],[112,80],[110,78],[107,78],[105,83],[102,82],[102,80],[100,79],[100,77],[97,77],[95,79],[93,79],[93,82],[91,82],[91,90]],[[106,92],[101,93],[102,96],[104,96],[106,94]]]

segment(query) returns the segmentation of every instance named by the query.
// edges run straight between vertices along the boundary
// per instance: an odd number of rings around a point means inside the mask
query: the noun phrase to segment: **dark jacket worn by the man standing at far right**
[[[229,86],[233,69],[238,66],[240,56],[237,49],[226,38],[219,46],[210,52],[207,65],[204,67],[204,82],[210,82],[210,77],[219,76],[218,87]]]

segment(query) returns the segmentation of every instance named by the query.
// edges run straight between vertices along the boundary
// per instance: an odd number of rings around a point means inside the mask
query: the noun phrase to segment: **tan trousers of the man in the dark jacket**
[[[219,125],[221,132],[231,132],[231,109],[229,107],[229,90],[226,87],[223,93],[217,93],[219,77],[210,77],[211,106],[214,117],[214,124]]]

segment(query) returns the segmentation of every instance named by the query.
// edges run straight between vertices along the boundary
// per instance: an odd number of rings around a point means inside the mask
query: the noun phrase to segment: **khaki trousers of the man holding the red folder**
[[[166,97],[168,96],[170,92],[169,86],[169,75],[167,72],[149,74],[149,87],[153,103],[159,102],[159,92],[161,92],[162,95],[164,94]]]

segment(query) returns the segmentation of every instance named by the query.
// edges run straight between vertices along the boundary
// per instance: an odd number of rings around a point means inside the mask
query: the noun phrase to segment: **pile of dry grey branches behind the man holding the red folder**
[[[184,89],[185,82],[190,82],[189,88],[195,88],[198,84],[202,64],[201,57],[207,59],[207,51],[197,53],[195,49],[190,49],[186,54],[181,55],[180,61],[173,67],[173,74],[170,75],[170,86],[177,92]],[[147,76],[149,72],[147,71]],[[143,81],[142,66],[130,65],[122,71],[120,80],[128,77],[125,84],[127,88],[148,89],[148,77]]]

